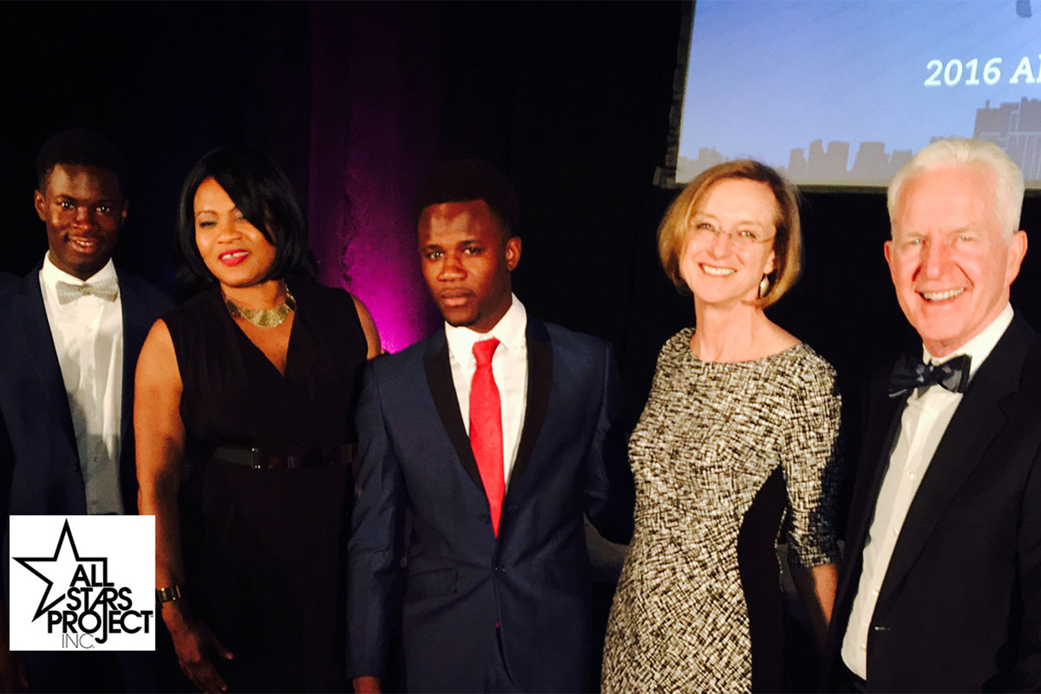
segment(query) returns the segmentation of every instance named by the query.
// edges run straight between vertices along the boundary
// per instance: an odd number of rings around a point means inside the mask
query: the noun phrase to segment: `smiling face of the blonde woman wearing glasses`
[[[773,272],[772,243],[737,243],[732,235],[772,238],[777,216],[767,184],[744,178],[712,184],[691,210],[680,253],[680,276],[695,301],[734,305],[756,299],[763,275]],[[730,233],[696,233],[699,228]]]

